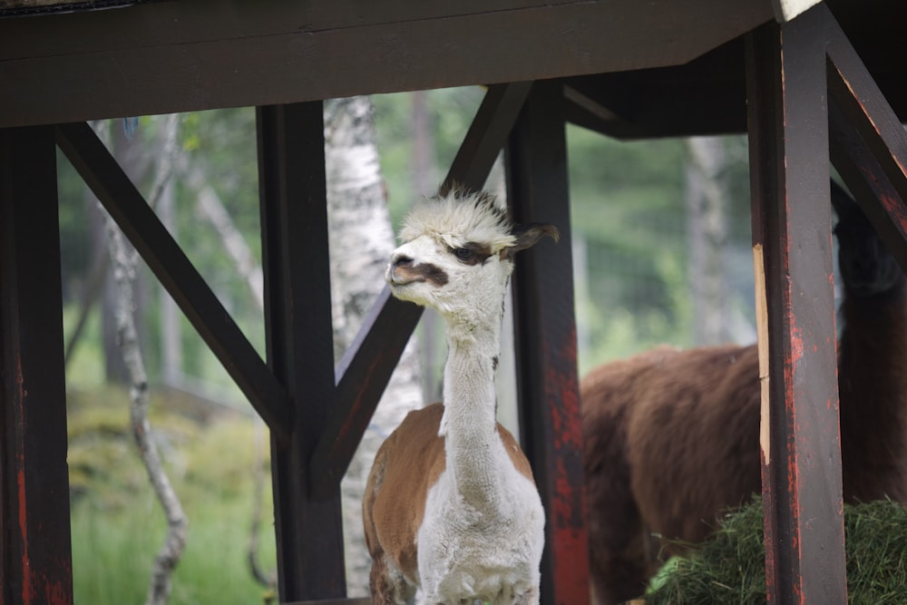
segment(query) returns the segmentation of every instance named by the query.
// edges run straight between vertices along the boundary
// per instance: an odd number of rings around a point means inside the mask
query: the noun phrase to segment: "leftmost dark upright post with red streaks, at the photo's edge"
[[[56,149],[0,130],[0,604],[73,602]]]

